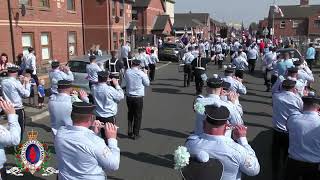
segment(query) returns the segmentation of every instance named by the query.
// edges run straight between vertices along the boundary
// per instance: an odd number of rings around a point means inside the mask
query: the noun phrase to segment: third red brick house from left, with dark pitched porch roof
[[[174,4],[174,1],[170,1]],[[167,2],[166,2],[167,3]],[[132,20],[135,24],[136,43],[154,42],[156,37],[170,36],[172,22],[166,13],[163,0],[136,0],[132,6]]]

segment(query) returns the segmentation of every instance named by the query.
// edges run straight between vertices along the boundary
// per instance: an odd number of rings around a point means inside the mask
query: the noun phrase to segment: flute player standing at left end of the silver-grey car
[[[59,61],[53,61],[51,63],[51,67],[52,70],[49,72],[49,79],[51,82],[51,93],[58,94],[58,82],[60,80],[74,81],[74,77],[69,67],[60,67]]]

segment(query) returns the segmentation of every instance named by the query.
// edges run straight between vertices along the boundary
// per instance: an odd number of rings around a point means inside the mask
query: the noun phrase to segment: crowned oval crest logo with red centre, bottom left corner
[[[42,176],[50,176],[58,173],[58,170],[48,167],[48,160],[51,159],[51,153],[46,144],[37,140],[38,132],[29,131],[28,140],[19,144],[15,150],[15,159],[17,167],[7,170],[7,174],[15,176],[23,176],[23,173],[36,172],[43,173]]]

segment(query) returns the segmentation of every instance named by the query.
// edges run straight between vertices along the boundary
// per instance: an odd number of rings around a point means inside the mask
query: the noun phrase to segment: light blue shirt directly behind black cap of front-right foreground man
[[[215,94],[210,94],[207,97],[204,98],[197,98],[195,101],[195,104],[201,104],[202,106],[206,105],[220,105],[225,106],[230,111],[230,117],[228,118],[228,121],[232,125],[237,124],[243,124],[243,120],[241,118],[241,115],[243,114],[242,106],[239,103],[233,104],[230,101],[223,101],[221,100],[220,96]],[[195,134],[201,134],[203,133],[203,122],[205,121],[206,115],[202,112],[196,111],[196,124],[194,133]]]

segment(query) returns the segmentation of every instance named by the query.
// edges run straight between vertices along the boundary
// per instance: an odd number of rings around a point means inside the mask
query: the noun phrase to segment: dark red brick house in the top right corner
[[[308,0],[300,0],[300,5],[279,7],[284,17],[273,14],[272,6],[269,10],[268,27],[274,24],[275,37],[320,37],[320,5],[309,5]]]

